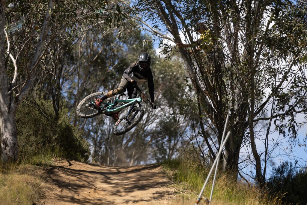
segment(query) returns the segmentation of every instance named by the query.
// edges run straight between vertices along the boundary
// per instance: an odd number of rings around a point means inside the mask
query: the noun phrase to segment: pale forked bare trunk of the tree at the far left
[[[48,11],[46,12],[45,21],[41,37],[36,47],[36,53],[33,58],[31,70],[34,69],[40,59],[43,44],[49,31],[50,10],[54,7],[54,0],[49,1]],[[17,132],[15,112],[18,104],[29,92],[32,86],[33,73],[30,80],[25,81],[20,93],[17,94],[15,99],[12,93],[9,92],[9,79],[5,66],[5,0],[0,0],[0,134],[1,134],[1,159],[4,162],[16,161],[18,159],[18,146],[17,146]]]

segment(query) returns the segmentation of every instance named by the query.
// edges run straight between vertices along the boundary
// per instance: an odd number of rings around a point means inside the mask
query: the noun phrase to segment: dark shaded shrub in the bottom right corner
[[[297,171],[291,162],[282,162],[273,168],[267,187],[272,194],[284,194],[283,201],[287,203],[307,204],[307,174]]]

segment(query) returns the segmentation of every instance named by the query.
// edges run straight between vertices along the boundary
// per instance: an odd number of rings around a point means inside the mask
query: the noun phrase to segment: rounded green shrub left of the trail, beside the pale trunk
[[[16,114],[20,159],[29,160],[51,152],[54,157],[87,160],[89,144],[83,132],[71,124],[68,109],[60,110],[55,120],[51,101],[40,98],[34,101],[36,106],[22,103]]]

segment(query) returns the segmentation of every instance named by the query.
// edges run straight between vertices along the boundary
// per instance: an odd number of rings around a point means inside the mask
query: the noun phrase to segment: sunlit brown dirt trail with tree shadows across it
[[[174,190],[157,164],[105,167],[57,161],[42,204],[174,204]]]

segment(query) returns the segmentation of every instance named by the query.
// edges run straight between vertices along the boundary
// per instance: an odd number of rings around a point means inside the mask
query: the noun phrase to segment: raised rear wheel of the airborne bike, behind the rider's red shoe
[[[97,92],[83,98],[77,106],[77,115],[82,118],[91,118],[101,114],[102,112],[96,108],[95,100],[102,96],[102,92]]]

